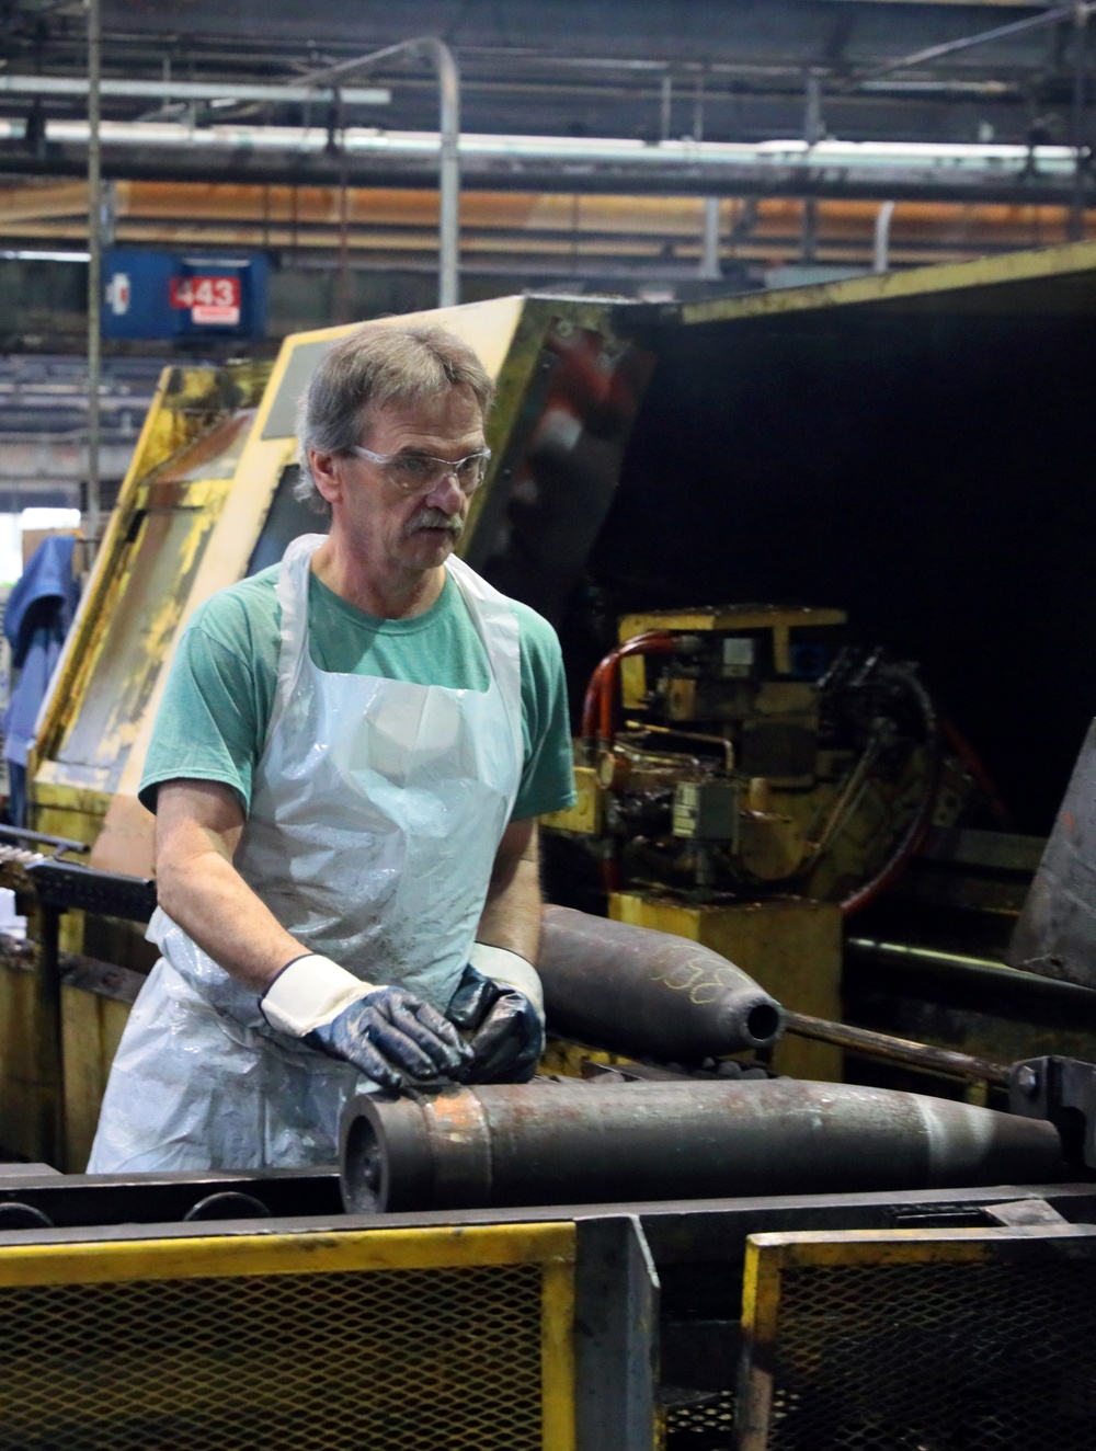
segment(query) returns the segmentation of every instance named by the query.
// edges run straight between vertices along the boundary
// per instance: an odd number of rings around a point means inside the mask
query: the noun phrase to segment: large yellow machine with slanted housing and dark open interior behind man
[[[1090,506],[1039,459],[1050,399],[1084,376],[1092,308],[1096,248],[1079,245],[681,308],[511,297],[437,315],[499,389],[463,553],[563,640],[581,805],[552,824],[559,898],[586,891],[572,865],[592,862],[602,908],[714,948],[800,1014],[996,1061],[1092,1051],[1087,1000],[1003,966],[1090,714],[1083,672],[1045,649],[1066,601],[1076,625],[1096,621]],[[287,338],[273,366],[164,374],[30,762],[32,824],[97,868],[151,874],[136,785],[192,611],[315,528],[292,499],[293,415],[344,331]],[[1054,416],[1077,457],[1083,411]],[[1070,528],[1039,554],[1044,517]],[[758,599],[777,604],[742,604]],[[986,769],[941,750],[920,688]],[[962,818],[990,775],[1016,802],[1009,830]],[[0,872],[25,889],[17,862]],[[83,955],[61,992],[75,1161],[150,956],[90,911],[65,916],[61,948]],[[33,1020],[26,963],[0,971],[0,994],[3,1100],[28,1103],[48,1075],[41,1035],[13,1026]],[[772,1062],[868,1071],[798,1036]],[[19,1117],[35,1114],[0,1103],[0,1139]]]

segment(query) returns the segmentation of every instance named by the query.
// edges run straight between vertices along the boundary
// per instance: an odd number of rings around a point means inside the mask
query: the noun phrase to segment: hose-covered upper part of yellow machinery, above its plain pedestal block
[[[579,749],[581,801],[547,824],[589,834],[608,891],[692,901],[852,913],[931,824],[955,824],[971,785],[916,669],[849,644],[838,609],[626,617]]]

